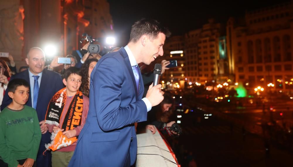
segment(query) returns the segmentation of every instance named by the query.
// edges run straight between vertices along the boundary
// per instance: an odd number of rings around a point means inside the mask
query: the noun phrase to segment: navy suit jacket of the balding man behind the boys
[[[15,78],[25,79],[26,81],[28,81],[28,84],[30,84],[28,69],[11,76],[10,81]],[[61,76],[58,73],[49,71],[47,69],[43,70],[41,83],[40,83],[40,89],[39,89],[39,95],[38,95],[38,101],[37,101],[37,107],[36,107],[39,121],[45,120],[45,115],[46,115],[48,104],[51,98],[57,91],[59,91],[63,87],[64,86],[63,86]],[[30,91],[28,102],[25,104],[30,107],[32,107],[31,97],[32,95]],[[1,105],[1,110],[4,109],[7,105],[9,105],[11,102],[12,100],[8,96],[8,92],[5,91],[5,95]],[[42,134],[42,138],[41,138],[42,142],[49,143],[51,141],[50,136],[51,134],[49,132]]]

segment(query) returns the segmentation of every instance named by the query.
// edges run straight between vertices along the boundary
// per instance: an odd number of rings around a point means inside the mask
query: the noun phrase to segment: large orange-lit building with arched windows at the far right
[[[236,82],[272,89],[292,89],[293,4],[287,2],[247,11],[244,21],[227,22],[229,71]],[[288,82],[289,81],[289,82]],[[287,84],[285,83],[287,82]]]

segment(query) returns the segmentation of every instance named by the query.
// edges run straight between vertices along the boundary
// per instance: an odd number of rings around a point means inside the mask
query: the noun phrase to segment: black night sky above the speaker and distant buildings
[[[166,25],[172,35],[183,35],[201,28],[209,18],[226,24],[229,17],[244,17],[246,10],[258,9],[288,0],[108,0],[117,46],[129,40],[131,25],[140,18],[152,18]],[[180,3],[181,2],[181,3]]]

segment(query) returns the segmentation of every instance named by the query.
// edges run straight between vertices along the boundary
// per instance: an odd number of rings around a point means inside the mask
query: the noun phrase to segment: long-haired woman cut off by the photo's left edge
[[[3,100],[3,95],[8,85],[8,81],[11,77],[11,71],[7,63],[0,59],[0,105]]]

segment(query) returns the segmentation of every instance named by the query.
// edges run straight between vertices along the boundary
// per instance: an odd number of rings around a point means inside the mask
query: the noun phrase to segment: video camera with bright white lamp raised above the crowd
[[[86,40],[88,41],[90,44],[88,45],[87,50],[85,49],[81,49],[81,53],[82,54],[86,54],[86,53],[93,53],[93,54],[97,54],[99,53],[101,56],[105,55],[106,53],[109,53],[109,51],[111,51],[114,48],[114,43],[115,43],[115,39],[114,38],[106,38],[105,40],[103,40],[103,38],[93,38],[92,36],[89,36],[88,34],[84,33],[82,34],[82,39],[80,40],[80,43],[82,43],[82,41]],[[100,52],[100,45],[98,44],[93,44],[94,42],[102,42],[103,44],[105,43],[105,46],[103,47],[103,50]],[[110,42],[109,42],[110,41]]]

